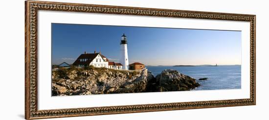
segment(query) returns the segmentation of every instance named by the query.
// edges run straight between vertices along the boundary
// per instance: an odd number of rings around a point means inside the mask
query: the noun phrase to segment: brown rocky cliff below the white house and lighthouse
[[[52,72],[52,96],[185,91],[198,87],[195,79],[173,70],[156,77],[140,72],[105,68],[63,69]]]

